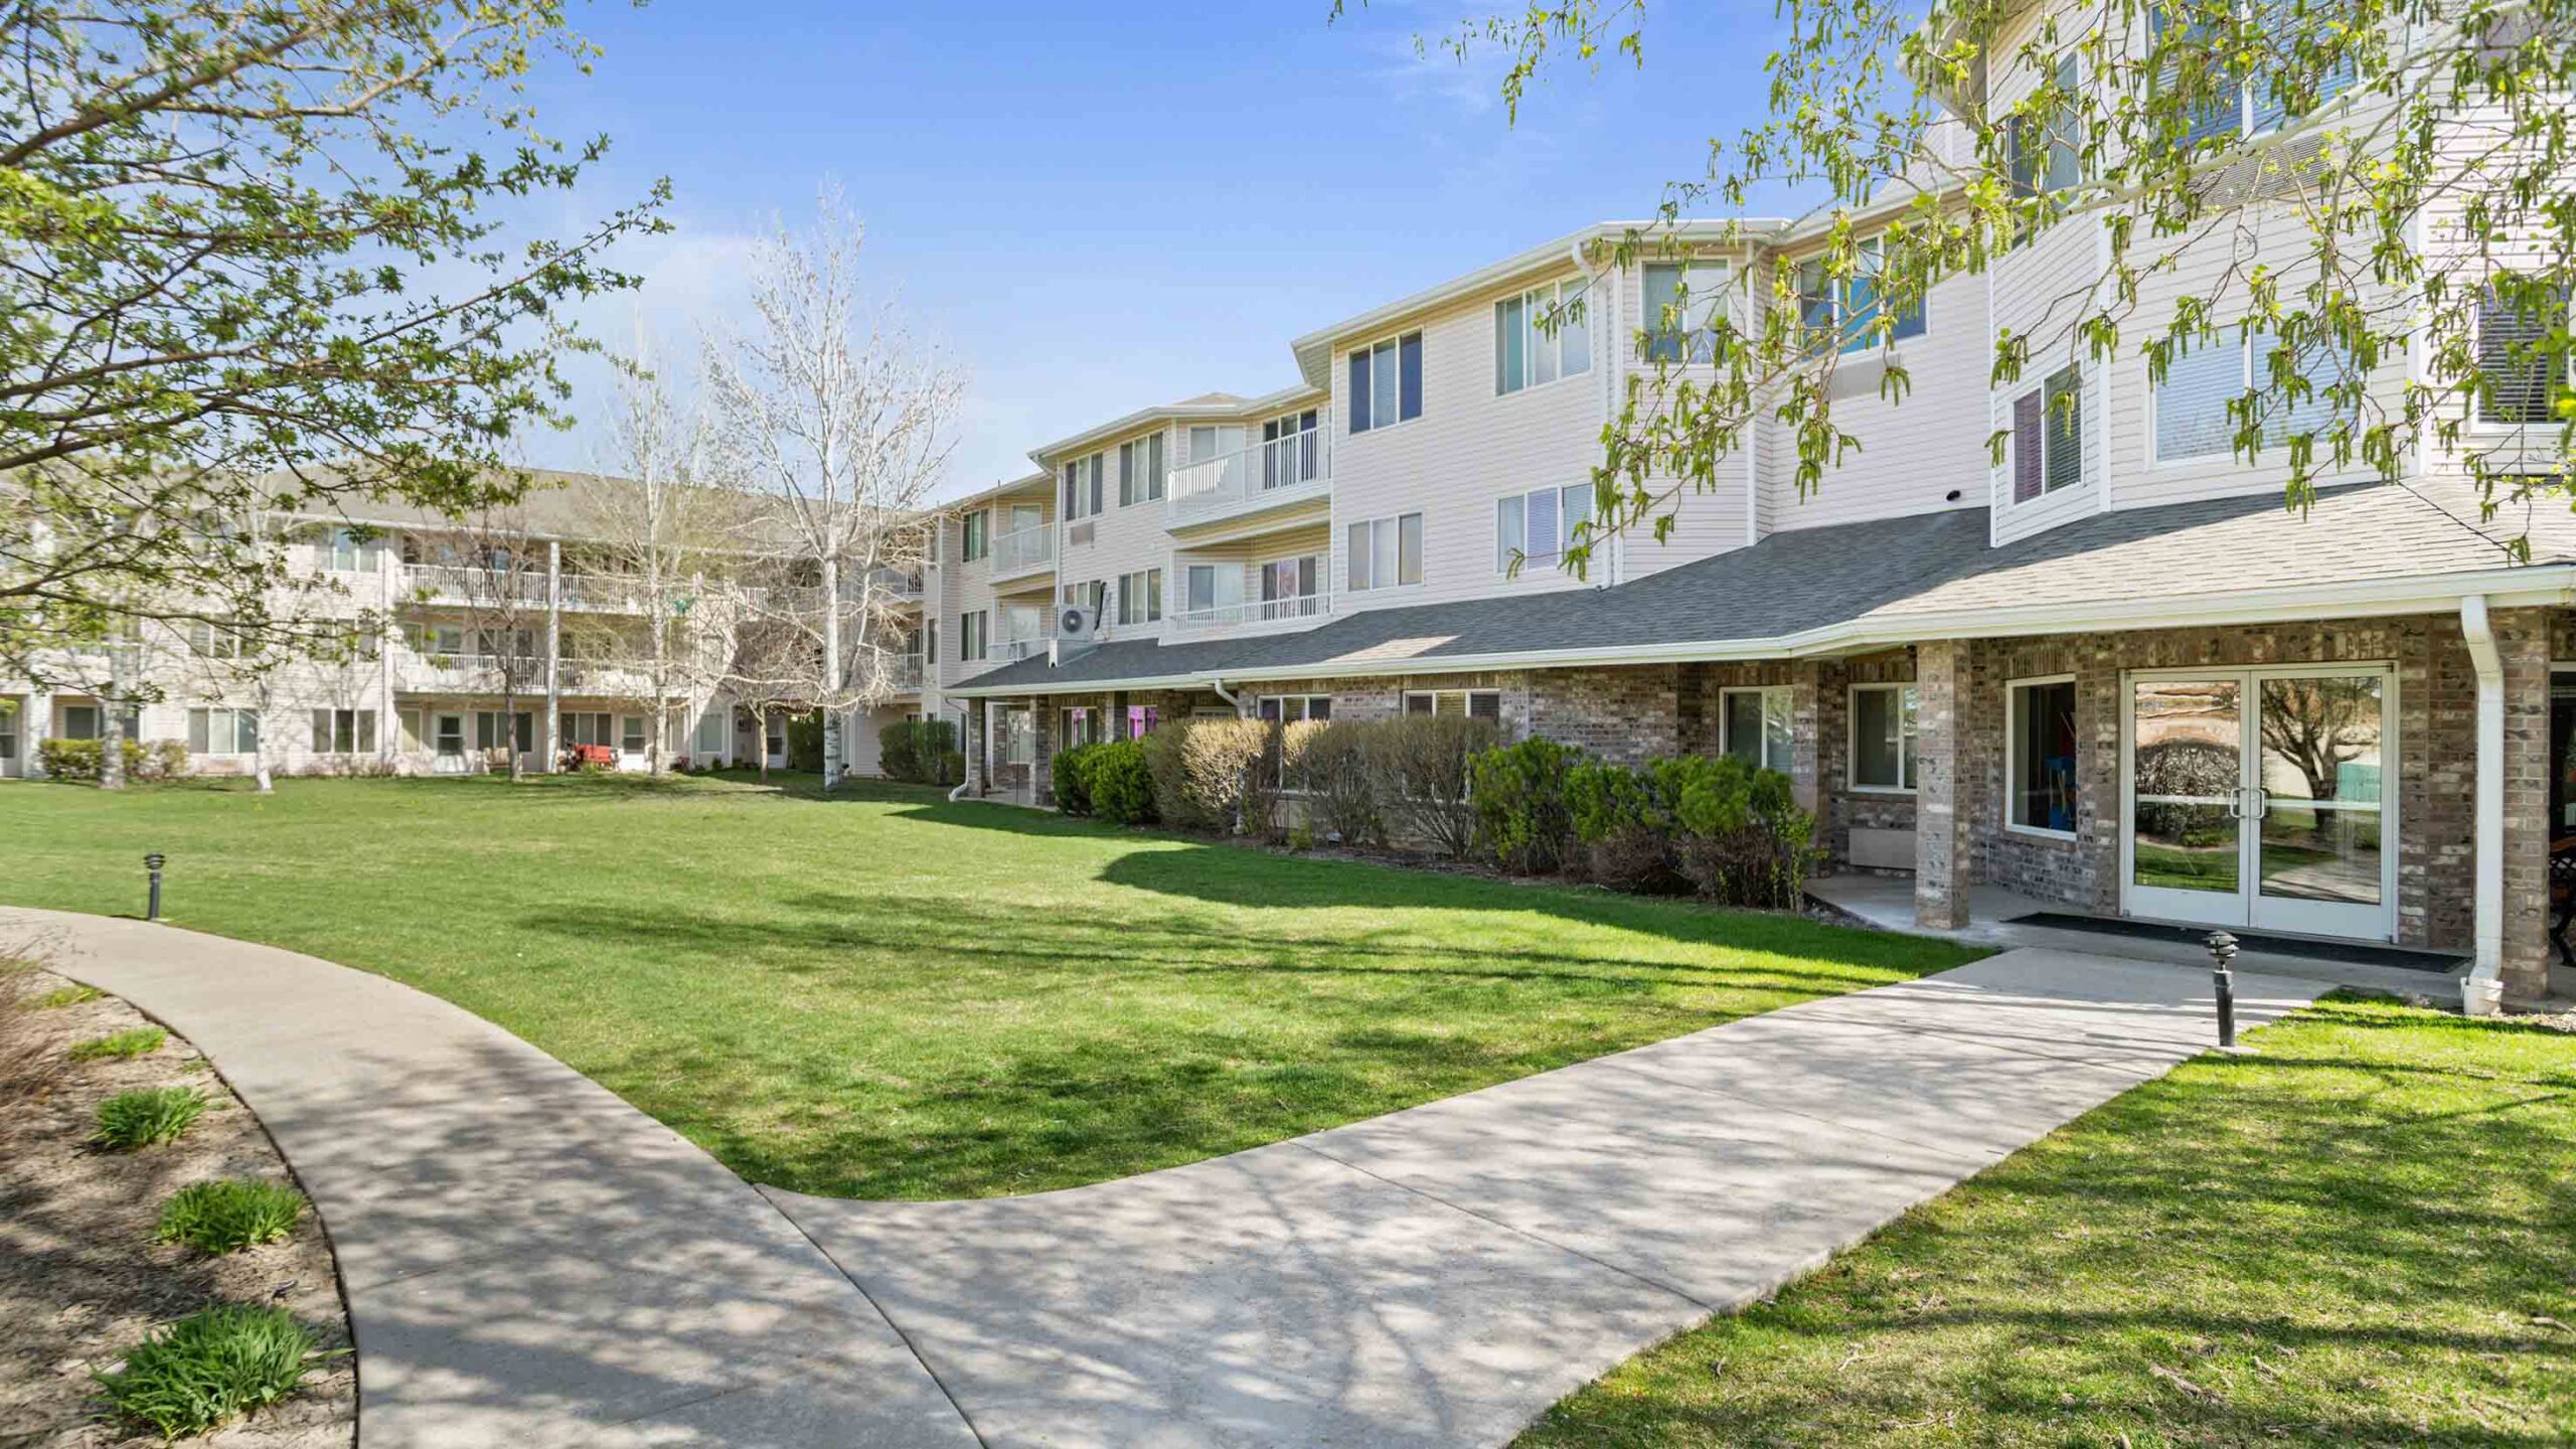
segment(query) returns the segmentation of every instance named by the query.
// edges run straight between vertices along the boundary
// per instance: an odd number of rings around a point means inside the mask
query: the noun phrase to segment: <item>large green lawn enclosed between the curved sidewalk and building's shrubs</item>
[[[747,779],[0,786],[0,900],[477,1011],[752,1181],[1010,1194],[1188,1163],[1968,959],[1682,902]]]

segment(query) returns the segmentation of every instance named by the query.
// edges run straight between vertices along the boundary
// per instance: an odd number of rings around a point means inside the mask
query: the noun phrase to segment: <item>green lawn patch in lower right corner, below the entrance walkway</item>
[[[2326,1000],[1520,1449],[2576,1444],[2576,1036]]]

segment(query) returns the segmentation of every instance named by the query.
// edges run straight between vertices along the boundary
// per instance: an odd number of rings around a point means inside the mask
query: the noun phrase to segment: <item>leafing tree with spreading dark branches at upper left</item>
[[[0,10],[0,676],[137,621],[289,632],[258,513],[523,487],[564,307],[634,278],[505,214],[605,139],[544,137],[562,0],[28,0]]]

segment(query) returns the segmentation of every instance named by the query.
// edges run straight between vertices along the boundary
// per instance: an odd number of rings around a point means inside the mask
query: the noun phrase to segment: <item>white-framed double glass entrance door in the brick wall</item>
[[[2367,665],[2130,676],[2123,908],[2388,941],[2391,686]]]

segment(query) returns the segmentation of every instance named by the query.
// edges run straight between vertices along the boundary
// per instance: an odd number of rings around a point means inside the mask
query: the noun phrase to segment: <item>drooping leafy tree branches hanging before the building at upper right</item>
[[[2241,345],[2228,443],[2280,467],[2293,508],[2354,474],[2465,477],[2488,513],[2568,505],[2576,0],[1783,0],[1777,15],[1767,116],[1713,142],[1659,224],[1602,260],[1767,242],[1780,232],[1698,214],[1775,191],[1819,209],[1795,266],[1716,273],[1723,297],[1646,320],[1705,343],[1641,340],[1651,366],[1607,428],[1597,523],[1569,567],[1610,531],[1667,531],[1752,428],[1785,428],[1801,495],[1832,487],[1855,446],[1837,366],[1880,358],[1865,394],[1901,402],[1893,330],[1924,294],[2050,248],[2071,266],[1999,320],[1994,387],[2138,358],[2161,382]],[[1507,57],[1517,119],[1558,62],[1646,64],[1646,8],[1535,0],[1445,44]],[[1873,307],[1832,304],[1855,286]]]

